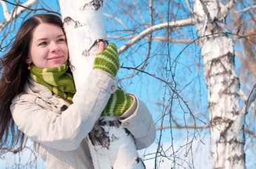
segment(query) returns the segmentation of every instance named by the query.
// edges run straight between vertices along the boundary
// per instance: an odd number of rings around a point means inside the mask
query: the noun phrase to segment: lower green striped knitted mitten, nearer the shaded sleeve
[[[104,111],[100,116],[116,116],[119,117],[131,107],[133,98],[127,95],[124,91],[118,89],[110,96]]]

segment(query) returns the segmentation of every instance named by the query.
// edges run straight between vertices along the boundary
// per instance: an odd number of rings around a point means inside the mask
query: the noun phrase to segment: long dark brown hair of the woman
[[[22,23],[13,46],[0,60],[0,148],[14,148],[18,143],[22,146],[24,141],[24,133],[18,130],[11,116],[10,105],[13,97],[22,93],[28,80],[26,59],[30,50],[30,40],[35,27],[40,23],[51,23],[63,28],[63,23],[57,15],[38,14],[30,17]],[[10,133],[11,139],[8,137]]]

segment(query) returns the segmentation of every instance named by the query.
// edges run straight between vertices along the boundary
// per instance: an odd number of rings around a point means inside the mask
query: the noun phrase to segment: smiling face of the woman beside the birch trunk
[[[61,27],[40,23],[34,29],[26,63],[38,68],[54,68],[63,65],[68,56],[69,50]]]

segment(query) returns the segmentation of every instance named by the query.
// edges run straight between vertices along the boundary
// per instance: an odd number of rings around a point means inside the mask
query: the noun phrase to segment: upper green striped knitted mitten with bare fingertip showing
[[[104,70],[115,77],[119,67],[119,56],[115,44],[108,44],[103,52],[96,54],[94,69]]]

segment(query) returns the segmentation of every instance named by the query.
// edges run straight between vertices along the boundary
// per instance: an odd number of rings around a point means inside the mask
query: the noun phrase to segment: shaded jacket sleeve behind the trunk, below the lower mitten
[[[148,107],[133,97],[133,104],[120,117],[121,126],[127,128],[133,135],[137,150],[147,148],[156,138],[156,127]]]

